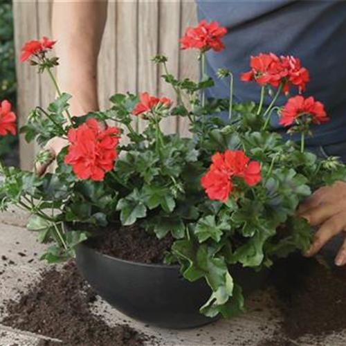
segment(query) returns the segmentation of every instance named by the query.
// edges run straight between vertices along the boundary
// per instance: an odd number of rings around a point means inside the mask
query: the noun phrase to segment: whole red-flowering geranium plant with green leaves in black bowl
[[[166,71],[162,78],[176,91],[176,104],[147,92],[139,97],[118,93],[111,97],[111,109],[78,117],[69,113],[71,95],[60,91],[52,72],[58,64],[57,57],[49,57],[55,42],[43,38],[24,46],[21,60],[48,73],[58,97],[48,109],[33,109],[21,132],[41,146],[55,136],[68,144],[53,174],[1,166],[1,208],[15,204],[31,213],[28,229],[50,244],[43,259],[73,257],[75,246],[91,236],[79,230],[80,224],[138,224],[159,239],[172,235],[165,262],[179,262],[187,280],[208,282],[211,295],[202,313],[230,318],[244,311],[242,287],[233,282],[235,266],[260,270],[277,257],[309,248],[309,224],[294,216],[298,204],[320,186],[345,177],[337,158],[318,158],[304,148],[310,125],[329,117],[313,97],[289,98],[290,90],[305,90],[309,71],[297,57],[273,53],[251,57],[251,70],[241,76],[260,84],[258,102],[233,104],[234,77],[228,69],[218,75],[229,79],[230,98],[206,99],[205,89],[214,85],[206,75],[206,54],[225,48],[225,33],[216,22],[201,21],[181,38],[181,48],[199,50],[199,82],[176,79],[167,71],[167,57],[154,57]],[[281,93],[288,100],[278,107]],[[264,107],[267,94],[272,101]],[[161,120],[176,116],[188,119],[192,138],[161,131]],[[300,140],[272,131],[273,116]],[[145,121],[142,133],[133,126],[134,117]],[[108,120],[117,127],[104,127]],[[13,133],[14,122],[10,104],[3,101],[0,134]],[[125,130],[129,141],[122,144]],[[43,150],[36,161],[49,156]]]

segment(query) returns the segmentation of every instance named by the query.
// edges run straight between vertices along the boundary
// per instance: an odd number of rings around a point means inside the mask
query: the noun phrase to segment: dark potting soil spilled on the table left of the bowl
[[[147,336],[128,325],[109,327],[90,312],[96,295],[86,285],[75,264],[42,273],[37,284],[19,301],[9,300],[1,323],[9,327],[62,340],[42,341],[40,346],[143,346]]]

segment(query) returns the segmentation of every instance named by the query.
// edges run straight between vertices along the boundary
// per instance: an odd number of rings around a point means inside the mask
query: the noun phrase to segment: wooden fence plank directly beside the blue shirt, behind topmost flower
[[[181,35],[188,26],[196,26],[197,8],[194,1],[183,1],[181,8]],[[199,79],[199,64],[197,63],[198,51],[189,49],[180,52],[179,78]],[[185,100],[186,101],[186,100]],[[190,136],[188,119],[179,118],[179,133],[182,136]]]

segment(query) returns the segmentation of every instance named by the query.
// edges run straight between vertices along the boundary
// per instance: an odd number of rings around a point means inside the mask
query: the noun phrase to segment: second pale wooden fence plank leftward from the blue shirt
[[[168,57],[167,69],[176,78],[179,75],[179,37],[181,21],[181,0],[159,1],[159,54]],[[170,84],[167,84],[161,75],[165,74],[163,65],[158,69],[158,93],[176,102],[176,93]],[[166,134],[175,133],[178,130],[178,118],[170,117],[161,122],[161,129]]]

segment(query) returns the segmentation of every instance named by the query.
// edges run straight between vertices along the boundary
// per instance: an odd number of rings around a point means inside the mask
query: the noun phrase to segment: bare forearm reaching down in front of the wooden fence
[[[98,109],[98,53],[107,19],[107,0],[53,2],[53,39],[60,65],[57,80],[71,93],[75,116]]]

